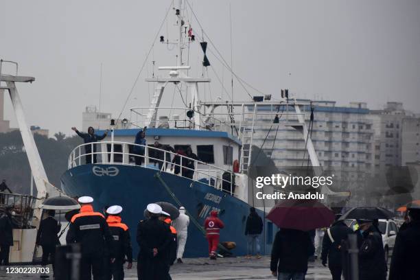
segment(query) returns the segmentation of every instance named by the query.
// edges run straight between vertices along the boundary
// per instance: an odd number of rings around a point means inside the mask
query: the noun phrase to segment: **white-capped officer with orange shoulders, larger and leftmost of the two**
[[[67,244],[79,243],[82,253],[80,260],[80,279],[104,279],[104,252],[108,250],[110,257],[113,252],[109,250],[112,237],[106,224],[104,215],[93,211],[93,198],[82,196],[78,199],[81,207],[80,213],[71,218],[67,232]],[[115,261],[115,259],[111,259]]]

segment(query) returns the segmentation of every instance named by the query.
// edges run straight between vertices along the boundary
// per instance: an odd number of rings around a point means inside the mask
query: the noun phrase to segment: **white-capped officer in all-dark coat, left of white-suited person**
[[[147,207],[150,218],[137,226],[137,257],[139,280],[166,280],[168,278],[167,254],[172,239],[169,226],[159,220],[162,208],[154,203]]]

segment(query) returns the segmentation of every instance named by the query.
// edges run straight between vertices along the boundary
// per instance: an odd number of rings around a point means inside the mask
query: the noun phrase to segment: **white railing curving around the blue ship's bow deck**
[[[84,143],[70,153],[68,166],[71,169],[85,163],[143,166],[189,178],[235,196],[233,172],[148,145],[121,141]]]

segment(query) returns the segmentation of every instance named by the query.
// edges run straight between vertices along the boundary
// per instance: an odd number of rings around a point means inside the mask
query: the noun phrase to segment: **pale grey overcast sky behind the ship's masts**
[[[36,78],[33,84],[18,85],[29,124],[49,129],[50,136],[81,127],[84,108],[100,103],[101,63],[101,109],[118,117],[170,3],[0,1],[0,58],[19,62],[21,75]],[[336,100],[340,105],[367,102],[369,108],[399,101],[420,112],[418,0],[189,3],[229,63],[231,5],[233,70],[264,93],[279,96],[279,89],[289,88],[299,97]],[[165,38],[174,23],[172,14],[160,32]],[[191,24],[201,36],[196,21]],[[198,47],[196,43],[191,50],[191,73],[201,75]],[[129,117],[130,107],[148,106],[152,88],[144,78],[152,71],[152,60],[175,64],[174,51],[167,54],[165,49],[156,43],[122,117]],[[209,60],[230,91],[230,73],[211,54]],[[213,97],[225,99],[212,71]],[[164,104],[171,104],[171,95],[172,91]],[[237,82],[234,98],[248,99]],[[5,118],[16,126],[10,98],[5,100]],[[176,98],[174,106],[180,105]]]

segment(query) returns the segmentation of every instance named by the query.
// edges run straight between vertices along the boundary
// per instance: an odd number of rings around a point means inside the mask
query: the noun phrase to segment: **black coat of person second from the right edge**
[[[363,233],[356,233],[359,246],[359,280],[385,280],[387,266],[381,233],[375,226]]]

